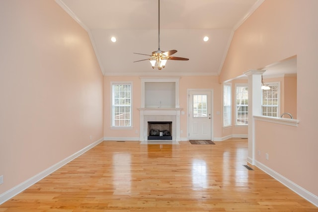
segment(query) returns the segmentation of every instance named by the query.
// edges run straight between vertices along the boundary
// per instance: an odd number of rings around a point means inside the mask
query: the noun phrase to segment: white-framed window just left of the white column
[[[236,85],[236,125],[248,124],[248,87],[246,84]]]

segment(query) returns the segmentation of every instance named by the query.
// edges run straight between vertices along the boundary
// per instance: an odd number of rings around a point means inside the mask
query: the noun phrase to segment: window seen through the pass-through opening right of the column
[[[262,115],[277,117],[279,114],[279,90],[280,84],[267,83],[269,90],[263,90],[262,97]]]

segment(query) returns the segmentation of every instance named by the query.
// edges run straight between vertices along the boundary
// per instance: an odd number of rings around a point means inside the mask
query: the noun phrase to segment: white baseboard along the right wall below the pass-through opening
[[[276,180],[284,184],[286,187],[288,187],[289,189],[297,193],[299,196],[303,197],[304,199],[308,200],[309,202],[314,204],[316,207],[318,207],[318,197],[316,195],[312,194],[311,192],[300,187],[296,183],[290,181],[286,177],[280,175],[276,171],[272,170],[271,168],[265,166],[264,164],[256,160],[255,160],[255,166],[257,166],[258,168],[260,168],[261,170],[263,170],[264,172],[266,172],[267,174],[269,174],[270,176],[272,176],[273,178],[275,178]]]

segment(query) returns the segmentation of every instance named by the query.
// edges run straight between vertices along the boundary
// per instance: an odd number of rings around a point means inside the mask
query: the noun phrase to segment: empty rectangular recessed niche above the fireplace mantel
[[[145,108],[175,108],[175,82],[145,82]]]

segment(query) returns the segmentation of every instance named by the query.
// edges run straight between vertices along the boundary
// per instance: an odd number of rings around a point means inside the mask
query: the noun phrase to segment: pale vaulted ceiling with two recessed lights
[[[167,61],[159,71],[158,0],[56,0],[92,41],[104,75],[218,75],[234,31],[263,0],[160,0],[160,50],[189,61]],[[117,41],[111,41],[111,37]],[[207,42],[203,37],[208,36]]]

